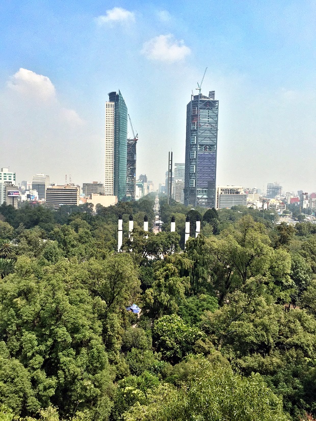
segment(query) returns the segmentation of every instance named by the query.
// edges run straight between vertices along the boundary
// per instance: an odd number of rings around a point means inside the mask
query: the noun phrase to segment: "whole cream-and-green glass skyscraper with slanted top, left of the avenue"
[[[121,92],[106,102],[106,177],[104,192],[123,200],[126,195],[127,107]]]

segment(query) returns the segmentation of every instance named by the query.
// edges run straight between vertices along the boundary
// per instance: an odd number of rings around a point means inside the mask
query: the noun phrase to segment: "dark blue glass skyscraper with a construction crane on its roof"
[[[185,204],[215,207],[218,100],[192,95],[187,105]]]

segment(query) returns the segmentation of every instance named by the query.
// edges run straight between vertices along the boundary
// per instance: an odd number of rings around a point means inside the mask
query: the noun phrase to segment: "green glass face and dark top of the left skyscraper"
[[[118,94],[110,92],[109,102],[114,102],[113,194],[123,200],[126,195],[127,107],[120,91]]]

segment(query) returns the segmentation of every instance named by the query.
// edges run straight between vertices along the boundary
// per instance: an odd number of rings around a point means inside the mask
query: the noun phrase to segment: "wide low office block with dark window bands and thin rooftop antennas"
[[[80,188],[68,184],[66,186],[49,186],[46,189],[46,203],[58,210],[61,205],[78,205]]]

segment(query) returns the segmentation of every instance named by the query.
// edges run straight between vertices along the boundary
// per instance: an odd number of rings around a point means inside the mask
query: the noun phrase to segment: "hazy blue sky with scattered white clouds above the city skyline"
[[[186,106],[207,67],[217,184],[316,191],[314,1],[7,0],[0,24],[0,167],[17,181],[102,182],[105,102],[120,90],[137,175],[158,188],[168,151],[185,160]]]

